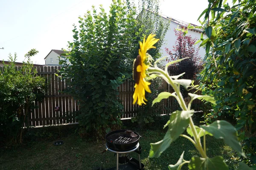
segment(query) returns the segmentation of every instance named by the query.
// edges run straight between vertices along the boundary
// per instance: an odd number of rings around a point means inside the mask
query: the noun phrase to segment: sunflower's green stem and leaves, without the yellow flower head
[[[186,105],[183,96],[180,91],[180,87],[186,88],[191,84],[189,79],[177,79],[177,77],[172,77],[169,75],[168,70],[162,70],[155,64],[154,67],[149,67],[147,69],[148,74],[157,74],[154,77],[162,77],[169,85],[172,86],[173,94],[160,94],[156,101],[159,102],[160,99],[165,99],[167,96],[174,96],[180,105],[182,111],[175,111],[171,114],[170,119],[167,121],[165,127],[169,127],[163,140],[151,143],[151,150],[149,151],[150,158],[158,158],[163,151],[165,151],[171,143],[173,143],[179,136],[182,136],[194,144],[195,148],[201,154],[201,157],[192,157],[190,161],[183,159],[183,153],[180,156],[178,162],[174,165],[169,165],[169,170],[180,170],[184,164],[188,164],[190,170],[228,170],[228,166],[222,156],[215,156],[209,158],[207,156],[206,149],[206,135],[212,135],[216,139],[224,139],[224,141],[233,147],[239,154],[246,157],[242,151],[241,144],[238,141],[236,128],[233,127],[229,122],[226,121],[216,121],[207,126],[195,126],[192,120],[192,115],[194,110],[191,109],[191,104],[194,99],[204,99],[208,102],[215,103],[213,97],[202,96],[197,94],[189,94],[191,96],[191,101]],[[189,136],[182,134],[187,129]],[[201,137],[203,137],[203,145],[201,144]],[[247,167],[247,165],[245,165]]]

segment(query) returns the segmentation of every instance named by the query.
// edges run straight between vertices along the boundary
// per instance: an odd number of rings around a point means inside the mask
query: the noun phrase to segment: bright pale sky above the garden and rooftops
[[[17,62],[35,48],[34,64],[44,64],[52,50],[66,48],[73,41],[73,24],[92,6],[103,5],[109,11],[112,0],[6,0],[0,5],[0,60],[17,53]],[[135,0],[137,4],[138,0]],[[160,13],[199,25],[199,15],[207,0],[160,0]]]

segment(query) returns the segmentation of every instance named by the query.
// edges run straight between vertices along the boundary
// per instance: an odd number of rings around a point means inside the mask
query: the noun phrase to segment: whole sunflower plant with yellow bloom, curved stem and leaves
[[[188,105],[185,104],[183,96],[180,92],[180,86],[187,89],[192,80],[178,79],[185,73],[176,76],[169,76],[167,69],[169,65],[175,62],[180,62],[186,58],[169,62],[166,64],[165,69],[160,69],[157,67],[157,62],[159,62],[161,59],[165,59],[165,57],[158,59],[154,62],[154,65],[152,65],[153,59],[151,55],[147,53],[147,51],[151,48],[155,48],[153,45],[157,41],[158,39],[154,38],[154,35],[150,34],[147,39],[144,38],[143,42],[140,42],[139,55],[137,56],[137,59],[134,60],[133,68],[134,80],[136,82],[133,95],[134,103],[137,102],[139,105],[146,104],[145,102],[147,100],[145,98],[145,91],[151,93],[149,88],[151,83],[148,81],[156,77],[161,77],[172,86],[175,92],[172,94],[169,92],[160,93],[157,98],[154,99],[152,105],[160,102],[162,99],[173,96],[175,99],[177,99],[181,110],[173,112],[169,121],[166,123],[166,125],[164,125],[164,127],[168,127],[168,130],[163,140],[156,143],[151,143],[149,157],[158,158],[172,142],[174,142],[179,136],[182,136],[194,144],[195,148],[201,154],[201,157],[192,157],[189,161],[187,161],[183,159],[183,152],[176,164],[169,165],[170,170],[180,170],[184,164],[188,164],[190,170],[228,170],[229,168],[222,156],[215,156],[213,158],[209,158],[207,156],[206,135],[214,136],[217,139],[224,139],[226,144],[245,157],[241,144],[238,141],[236,128],[224,120],[215,121],[207,126],[203,125],[198,127],[194,125],[191,117],[194,114],[194,110],[191,109],[192,101],[195,99],[203,99],[215,104],[215,100],[211,96],[202,96],[189,93],[191,100]],[[182,134],[185,130],[191,137]],[[201,142],[201,137],[203,137],[203,142]],[[248,168],[249,167],[244,162],[239,163],[240,170],[245,170]]]

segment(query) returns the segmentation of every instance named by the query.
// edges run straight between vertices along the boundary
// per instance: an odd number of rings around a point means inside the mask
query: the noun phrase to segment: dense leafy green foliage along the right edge
[[[252,132],[256,130],[255,11],[252,0],[233,6],[222,0],[209,3],[204,18],[207,37],[201,39],[208,50],[199,78],[203,94],[216,99],[212,116],[237,120],[237,130],[245,127]]]

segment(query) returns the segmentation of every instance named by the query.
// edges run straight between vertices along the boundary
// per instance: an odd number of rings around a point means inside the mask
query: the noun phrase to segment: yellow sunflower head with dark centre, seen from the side
[[[153,45],[159,40],[154,38],[155,35],[148,35],[147,40],[145,40],[145,37],[143,39],[143,42],[140,42],[140,49],[139,49],[139,55],[137,56],[136,59],[134,59],[134,67],[133,67],[133,78],[135,80],[135,91],[133,95],[134,102],[138,103],[138,105],[142,105],[146,103],[144,100],[147,102],[145,98],[145,91],[148,93],[151,93],[148,85],[150,85],[150,82],[145,81],[146,75],[146,70],[148,69],[150,62],[148,62],[148,57],[150,56],[147,54],[147,51],[150,48],[156,48]]]

